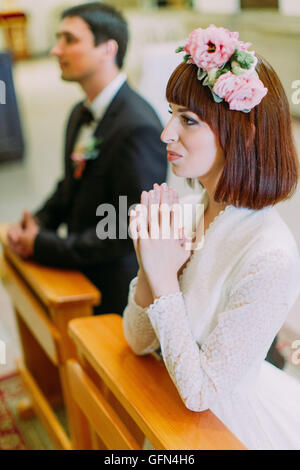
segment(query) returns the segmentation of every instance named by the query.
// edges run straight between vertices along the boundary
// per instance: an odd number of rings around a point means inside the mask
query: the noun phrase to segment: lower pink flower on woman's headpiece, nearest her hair
[[[258,105],[268,89],[264,87],[256,74],[245,72],[242,75],[235,75],[227,72],[218,78],[213,92],[220,98],[224,98],[231,110],[243,111]]]

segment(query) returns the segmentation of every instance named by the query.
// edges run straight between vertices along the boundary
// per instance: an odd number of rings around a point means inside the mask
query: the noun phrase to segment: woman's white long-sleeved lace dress
[[[160,347],[185,406],[211,409],[248,449],[300,449],[300,382],[264,360],[300,290],[295,240],[276,209],[228,206],[179,285],[143,309],[131,281],[133,351]]]

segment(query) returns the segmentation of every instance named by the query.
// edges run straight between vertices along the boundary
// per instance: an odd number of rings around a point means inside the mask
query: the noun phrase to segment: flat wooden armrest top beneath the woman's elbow
[[[72,320],[69,334],[156,449],[245,449],[209,410],[188,410],[164,362],[136,356],[118,315]]]

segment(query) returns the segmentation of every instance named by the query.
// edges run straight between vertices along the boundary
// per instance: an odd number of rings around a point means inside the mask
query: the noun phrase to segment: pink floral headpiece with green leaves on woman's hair
[[[247,51],[250,42],[238,40],[239,33],[217,28],[198,28],[191,32],[185,46],[184,62],[198,67],[198,80],[208,86],[217,103],[225,100],[229,108],[249,113],[257,106],[268,89],[255,71],[257,58]]]

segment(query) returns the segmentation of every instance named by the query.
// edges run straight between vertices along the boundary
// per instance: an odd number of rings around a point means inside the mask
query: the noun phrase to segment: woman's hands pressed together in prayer
[[[178,274],[191,255],[184,234],[177,192],[166,183],[143,191],[130,213],[130,229],[139,263],[153,297],[179,292]]]

